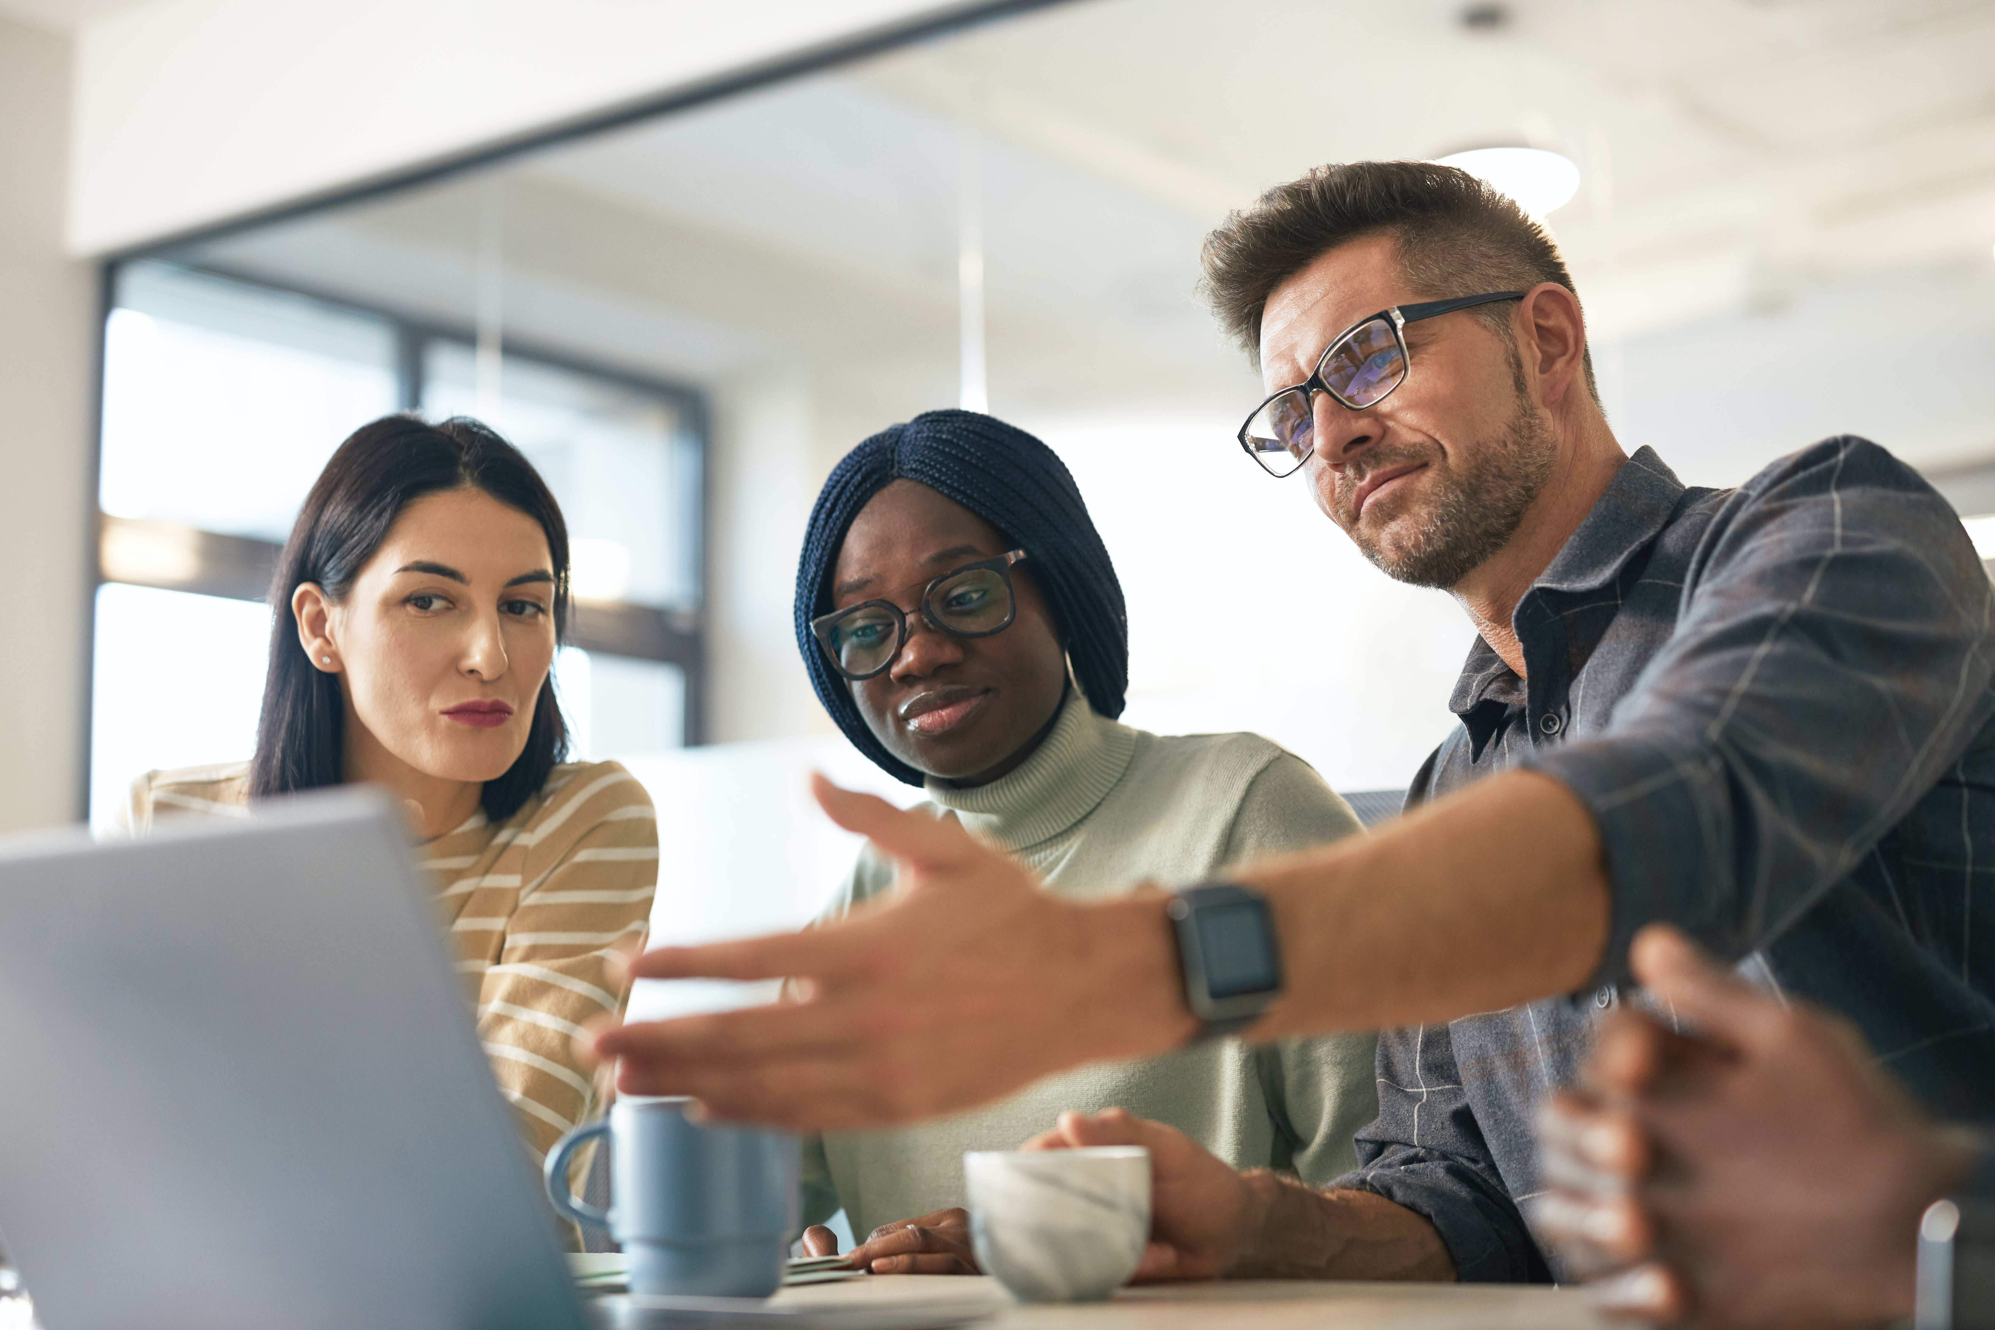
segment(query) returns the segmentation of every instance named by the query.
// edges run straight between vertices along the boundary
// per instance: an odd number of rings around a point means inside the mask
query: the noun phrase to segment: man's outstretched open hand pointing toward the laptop
[[[954,820],[822,776],[812,790],[896,861],[898,889],[802,933],[636,957],[636,979],[788,977],[792,1001],[583,1035],[585,1055],[620,1059],[620,1093],[802,1131],[890,1127],[1191,1039],[1161,893],[1063,901]]]

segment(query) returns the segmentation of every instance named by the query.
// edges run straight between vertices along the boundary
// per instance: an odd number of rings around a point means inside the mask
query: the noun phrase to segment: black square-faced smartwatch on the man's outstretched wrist
[[[1199,1017],[1197,1039],[1233,1035],[1281,997],[1275,915],[1253,887],[1207,881],[1171,895],[1185,1005]]]

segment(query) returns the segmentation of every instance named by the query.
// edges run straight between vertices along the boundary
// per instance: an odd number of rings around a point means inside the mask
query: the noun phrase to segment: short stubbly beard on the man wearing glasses
[[[1460,461],[1460,469],[1444,465],[1438,451],[1428,449],[1377,453],[1357,479],[1363,483],[1385,467],[1418,461],[1432,473],[1428,508],[1412,514],[1418,526],[1410,536],[1400,534],[1400,522],[1393,548],[1381,546],[1379,532],[1345,522],[1365,558],[1398,582],[1446,590],[1482,566],[1516,532],[1524,512],[1552,479],[1556,449],[1538,413],[1518,397],[1502,439],[1456,449],[1452,459]]]

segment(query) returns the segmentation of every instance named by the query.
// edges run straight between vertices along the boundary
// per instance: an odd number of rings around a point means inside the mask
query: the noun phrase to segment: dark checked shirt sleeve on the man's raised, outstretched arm
[[[1831,439],[1738,491],[1608,728],[1524,762],[1600,830],[1598,979],[1652,921],[1738,959],[1847,875],[1987,722],[1991,620],[1953,508],[1883,449]]]

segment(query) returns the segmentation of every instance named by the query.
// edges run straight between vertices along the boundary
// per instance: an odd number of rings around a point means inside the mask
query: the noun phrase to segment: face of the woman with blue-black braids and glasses
[[[1029,756],[1065,694],[1067,654],[1031,574],[1011,570],[1017,618],[988,638],[936,632],[922,590],[944,572],[1013,548],[970,508],[894,481],[872,497],[832,570],[832,608],[892,600],[908,616],[894,664],[852,684],[866,726],[912,768],[962,784],[1003,776]]]

